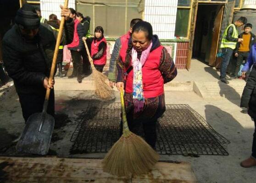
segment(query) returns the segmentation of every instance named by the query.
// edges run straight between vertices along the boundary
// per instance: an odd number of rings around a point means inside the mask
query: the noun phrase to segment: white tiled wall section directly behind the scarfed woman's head
[[[144,20],[160,39],[174,38],[178,0],[145,0]]]

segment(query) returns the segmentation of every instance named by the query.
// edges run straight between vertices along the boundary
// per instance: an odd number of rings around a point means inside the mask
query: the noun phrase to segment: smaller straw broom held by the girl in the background
[[[91,67],[92,67],[92,76],[93,79],[95,81],[95,90],[96,90],[96,94],[99,95],[102,99],[111,99],[112,97],[112,89],[109,86],[109,84],[106,83],[106,80],[108,80],[108,78],[106,77],[106,75],[104,75],[103,73],[99,72],[98,70],[96,70],[96,68],[94,67],[93,64],[93,59],[90,56],[90,52],[89,49],[87,47],[86,41],[84,40],[84,46],[86,48],[86,52],[89,58],[89,62],[91,63]]]

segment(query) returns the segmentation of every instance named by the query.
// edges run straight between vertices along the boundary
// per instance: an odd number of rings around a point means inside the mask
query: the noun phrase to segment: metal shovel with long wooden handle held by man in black
[[[64,8],[67,8],[68,0],[65,0]],[[61,17],[61,25],[54,50],[53,61],[50,70],[49,82],[52,81],[56,66],[57,55],[62,37],[65,17]],[[16,145],[18,152],[46,155],[50,148],[51,136],[54,128],[54,117],[47,114],[50,89],[46,90],[45,102],[41,113],[30,115],[22,136]]]

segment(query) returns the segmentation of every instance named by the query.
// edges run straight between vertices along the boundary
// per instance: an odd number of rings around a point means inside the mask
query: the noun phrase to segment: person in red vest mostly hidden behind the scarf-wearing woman
[[[138,22],[138,21],[142,21],[142,19],[140,18],[134,18],[133,20],[131,20],[130,22],[130,28],[129,31],[122,35],[121,37],[119,37],[114,45],[112,54],[111,54],[111,58],[110,58],[110,62],[109,62],[109,71],[108,71],[108,79],[109,79],[109,85],[113,88],[113,86],[116,84],[116,78],[117,78],[117,59],[119,57],[119,52],[120,49],[122,47],[122,45],[128,46],[128,41],[131,37],[131,33],[133,30],[133,26]]]

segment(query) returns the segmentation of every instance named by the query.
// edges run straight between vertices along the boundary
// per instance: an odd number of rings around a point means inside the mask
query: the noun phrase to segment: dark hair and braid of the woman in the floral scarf
[[[145,37],[151,41],[153,37],[153,29],[152,26],[149,22],[147,21],[138,21],[134,26],[133,26],[133,31],[132,35],[134,32],[139,32],[143,31],[145,33]],[[126,56],[125,56],[125,67],[129,66],[130,60],[131,60],[131,50],[133,48],[132,42],[129,42],[128,48],[126,50]]]

